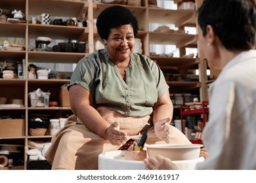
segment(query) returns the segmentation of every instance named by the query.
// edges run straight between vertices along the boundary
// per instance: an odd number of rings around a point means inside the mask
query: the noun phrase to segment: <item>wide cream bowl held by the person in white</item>
[[[202,146],[202,144],[145,144],[148,156],[161,155],[173,161],[199,158]]]

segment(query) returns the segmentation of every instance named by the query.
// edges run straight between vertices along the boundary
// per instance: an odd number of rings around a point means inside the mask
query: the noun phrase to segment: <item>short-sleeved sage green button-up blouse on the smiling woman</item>
[[[126,82],[106,49],[81,59],[68,88],[79,84],[94,96],[95,107],[106,107],[125,116],[146,116],[169,89],[160,67],[147,56],[133,53],[127,69]]]

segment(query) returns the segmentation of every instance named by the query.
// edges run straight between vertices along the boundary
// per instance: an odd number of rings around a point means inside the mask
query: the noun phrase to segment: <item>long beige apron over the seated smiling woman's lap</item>
[[[127,135],[133,136],[142,133],[146,122],[150,122],[150,116],[144,117],[125,117],[122,114],[98,108],[107,122],[119,122],[120,129]],[[148,131],[146,144],[165,143],[156,137],[154,127]],[[171,143],[188,144],[179,129],[172,128]],[[102,152],[118,150],[119,146],[113,146],[109,141],[89,131],[85,125],[75,115],[66,120],[65,126],[54,135],[52,145],[45,154],[45,158],[51,163],[52,169],[76,169],[91,170],[98,169],[98,155]]]

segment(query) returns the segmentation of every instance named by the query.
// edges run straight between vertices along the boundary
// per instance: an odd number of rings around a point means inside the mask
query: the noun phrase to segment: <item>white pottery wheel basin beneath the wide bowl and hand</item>
[[[196,158],[181,161],[172,161],[178,169],[194,170],[198,163],[204,161],[204,158]],[[126,160],[124,151],[116,150],[104,152],[98,156],[99,170],[144,170],[146,168],[144,161]]]

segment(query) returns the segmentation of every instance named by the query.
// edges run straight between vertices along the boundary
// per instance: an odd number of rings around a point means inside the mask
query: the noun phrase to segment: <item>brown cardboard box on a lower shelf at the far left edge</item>
[[[25,135],[25,120],[0,120],[0,137],[22,137]]]

